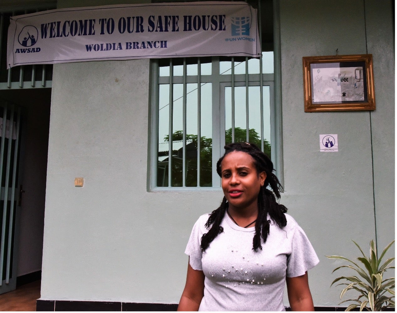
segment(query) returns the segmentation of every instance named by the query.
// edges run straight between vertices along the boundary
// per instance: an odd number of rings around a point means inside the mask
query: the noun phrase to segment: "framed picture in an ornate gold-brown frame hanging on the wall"
[[[304,111],[375,109],[372,54],[303,57]]]

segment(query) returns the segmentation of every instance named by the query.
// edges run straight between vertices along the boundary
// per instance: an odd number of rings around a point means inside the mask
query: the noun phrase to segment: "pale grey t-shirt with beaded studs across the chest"
[[[255,228],[237,226],[225,214],[220,233],[201,252],[201,236],[208,214],[199,217],[185,253],[190,265],[204,272],[204,297],[199,311],[285,311],[285,277],[304,275],[318,257],[304,231],[288,214],[280,229],[270,224],[270,234],[262,250],[252,250]],[[269,217],[268,217],[269,218]]]

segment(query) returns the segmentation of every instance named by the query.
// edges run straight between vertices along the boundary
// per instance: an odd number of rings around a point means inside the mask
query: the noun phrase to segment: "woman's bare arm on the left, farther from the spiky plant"
[[[185,289],[183,289],[177,311],[198,311],[203,296],[204,273],[193,269],[188,263]]]

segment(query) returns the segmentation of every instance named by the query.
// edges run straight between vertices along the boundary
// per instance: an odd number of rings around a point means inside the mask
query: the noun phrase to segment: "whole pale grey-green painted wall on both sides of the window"
[[[368,11],[378,4],[365,5]],[[366,29],[361,0],[280,1],[281,201],[320,258],[309,273],[318,306],[339,303],[339,291],[329,288],[337,264],[324,255],[354,257],[350,239],[367,245],[375,236],[371,124],[376,218],[390,221],[378,227],[378,236],[383,242],[394,237],[394,94],[387,88],[394,74],[391,8],[367,14]],[[379,19],[389,35],[378,34]],[[365,54],[366,46],[376,60],[377,110],[304,113],[302,57],[334,54],[337,48],[339,54]],[[191,227],[220,204],[222,192],[146,191],[149,84],[149,60],[54,65],[43,300],[179,301]],[[338,134],[339,152],[319,152],[324,133]],[[75,177],[84,177],[84,187],[74,187]]]

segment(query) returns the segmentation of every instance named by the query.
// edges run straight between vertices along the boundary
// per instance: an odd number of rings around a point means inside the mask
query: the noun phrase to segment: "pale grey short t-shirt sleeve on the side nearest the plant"
[[[292,238],[291,254],[287,259],[287,277],[298,277],[312,269],[319,262],[312,244],[299,225],[296,225]]]

